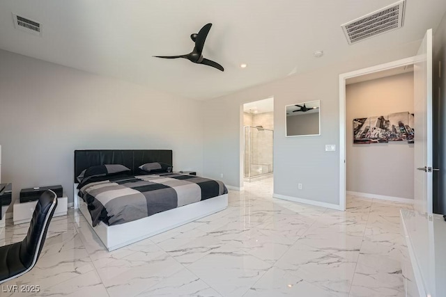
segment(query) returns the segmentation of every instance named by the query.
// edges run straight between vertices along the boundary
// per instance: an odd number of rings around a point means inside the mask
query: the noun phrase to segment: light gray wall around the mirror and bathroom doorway
[[[419,46],[420,40],[367,58],[351,57],[204,102],[204,174],[243,186],[242,105],[274,96],[275,194],[339,204],[339,151],[325,152],[326,144],[339,147],[339,74],[413,56]],[[285,137],[285,106],[296,97],[321,100],[321,136]]]

